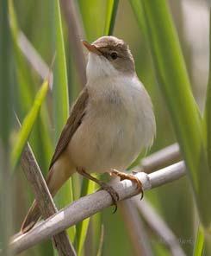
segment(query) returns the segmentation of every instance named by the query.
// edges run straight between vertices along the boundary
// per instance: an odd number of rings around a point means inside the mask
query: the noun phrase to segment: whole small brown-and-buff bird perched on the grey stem
[[[91,172],[110,172],[122,179],[141,183],[121,173],[152,145],[156,125],[151,99],[135,73],[133,56],[127,44],[114,36],[102,36],[89,51],[87,84],[71,109],[60,135],[47,175],[47,186],[54,196],[74,173],[97,182],[112,196],[118,194]],[[40,218],[33,202],[22,223],[28,232]]]

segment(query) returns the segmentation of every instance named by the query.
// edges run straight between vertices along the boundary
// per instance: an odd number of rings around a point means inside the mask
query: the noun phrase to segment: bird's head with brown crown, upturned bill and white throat
[[[133,55],[126,42],[115,36],[102,36],[90,44],[83,41],[89,50],[87,75],[102,76],[117,73],[133,75]]]

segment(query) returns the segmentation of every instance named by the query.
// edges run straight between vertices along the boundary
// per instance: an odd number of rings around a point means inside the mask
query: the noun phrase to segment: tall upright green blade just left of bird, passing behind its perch
[[[55,126],[55,141],[69,117],[68,82],[66,74],[65,46],[61,22],[59,0],[53,0],[53,42],[56,51],[53,76],[53,122]],[[65,206],[73,201],[71,180],[66,182],[57,196],[59,206]],[[75,227],[68,229],[71,240],[75,236]]]

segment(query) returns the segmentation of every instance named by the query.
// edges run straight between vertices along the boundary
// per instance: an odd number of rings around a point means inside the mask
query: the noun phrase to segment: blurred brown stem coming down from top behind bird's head
[[[78,78],[80,80],[80,89],[86,84],[85,59],[81,46],[82,35],[80,35],[81,22],[78,20],[75,3],[72,0],[60,0],[61,9],[65,15],[66,25],[68,29],[69,42],[71,43],[72,54],[78,70]]]

